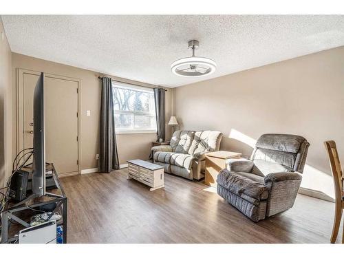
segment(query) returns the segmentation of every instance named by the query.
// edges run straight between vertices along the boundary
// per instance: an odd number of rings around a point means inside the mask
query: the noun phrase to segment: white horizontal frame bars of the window
[[[120,88],[120,89],[131,89],[131,90],[140,90],[140,92],[147,92],[147,93],[153,93],[153,89],[148,87],[140,87],[138,85],[132,85],[130,83],[120,83],[117,81],[112,81],[112,87]],[[114,110],[114,113],[116,114],[116,110]],[[118,114],[118,113],[117,113]],[[138,112],[138,111],[120,111],[120,114],[133,114],[133,115],[151,115],[149,112]],[[156,114],[155,114],[156,119]],[[116,127],[116,125],[115,125]],[[126,134],[126,133],[156,133],[157,129],[117,129],[116,128],[116,134]]]

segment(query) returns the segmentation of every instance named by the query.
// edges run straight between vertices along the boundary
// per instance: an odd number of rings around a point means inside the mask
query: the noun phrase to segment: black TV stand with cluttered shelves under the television
[[[54,206],[54,208],[51,209],[52,213],[47,221],[55,212],[61,214],[62,217],[58,220],[57,226],[63,227],[63,244],[67,243],[67,197],[58,180],[54,164],[48,164],[47,169],[52,170],[52,177],[57,189],[52,190],[54,193],[45,193],[43,196],[30,194],[19,203],[11,200],[6,202],[1,213],[1,243],[16,243],[19,230],[30,227],[30,217],[34,210],[49,206]],[[12,225],[13,220],[17,222],[16,225]],[[14,226],[16,227],[14,228]]]

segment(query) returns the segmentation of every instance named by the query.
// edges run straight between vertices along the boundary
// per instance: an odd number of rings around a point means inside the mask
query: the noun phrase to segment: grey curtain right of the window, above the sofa
[[[154,88],[156,126],[158,139],[165,140],[165,90]]]

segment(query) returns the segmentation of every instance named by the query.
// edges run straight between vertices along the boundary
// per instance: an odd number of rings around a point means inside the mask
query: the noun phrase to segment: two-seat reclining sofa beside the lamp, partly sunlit
[[[153,162],[164,166],[166,173],[200,180],[204,178],[204,154],[218,151],[221,139],[219,131],[175,131],[170,145],[151,149]]]

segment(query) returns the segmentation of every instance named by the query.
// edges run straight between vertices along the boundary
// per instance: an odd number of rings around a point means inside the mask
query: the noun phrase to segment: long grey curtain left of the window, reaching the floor
[[[102,79],[102,99],[100,107],[100,153],[99,171],[111,172],[120,169],[118,162],[115,118],[114,118],[114,91],[111,78]]]

